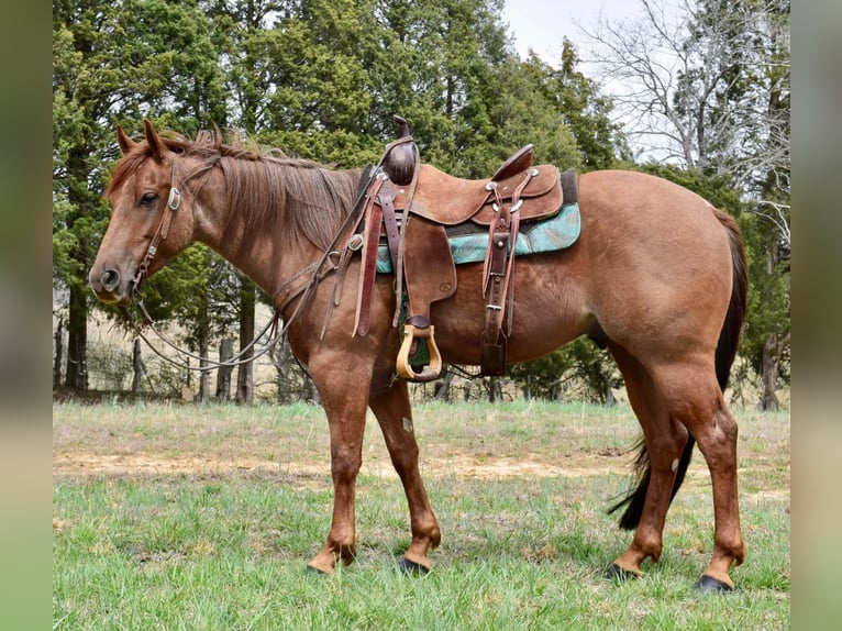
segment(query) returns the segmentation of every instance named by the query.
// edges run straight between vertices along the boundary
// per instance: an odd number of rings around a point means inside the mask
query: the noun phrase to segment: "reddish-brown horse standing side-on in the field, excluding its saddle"
[[[333,513],[308,568],[333,574],[355,558],[355,480],[370,408],[409,506],[411,542],[399,564],[429,572],[428,553],[442,535],[419,471],[408,384],[395,375],[395,277],[376,277],[366,335],[353,334],[359,257],[347,262],[341,284],[329,280],[336,274],[330,250],[351,233],[363,169],[250,152],[211,133],[190,141],[149,121],[144,128],[137,142],[117,130],[122,157],[106,191],[112,213],[89,274],[93,292],[130,305],[144,277],[193,242],[247,275],[280,311],[328,418]],[[698,444],[710,471],[714,535],[695,587],[732,590],[730,569],[747,551],[738,427],[723,397],[747,288],[739,228],[698,195],[642,173],[581,174],[578,203],[581,231],[572,246],[518,261],[507,361],[581,335],[609,350],[643,435],[636,487],[613,507],[625,508],[620,527],[634,530],[633,539],[606,574],[641,577],[644,561],[658,561],[667,509]],[[456,291],[432,306],[431,320],[445,363],[479,365],[483,264],[457,267]]]

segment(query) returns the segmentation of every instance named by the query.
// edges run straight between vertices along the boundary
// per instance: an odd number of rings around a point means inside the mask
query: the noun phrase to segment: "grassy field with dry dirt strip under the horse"
[[[54,629],[787,629],[789,416],[739,412],[738,590],[693,583],[712,546],[696,454],[642,580],[601,573],[630,541],[605,514],[628,484],[628,408],[513,402],[416,409],[439,516],[433,572],[409,543],[374,421],[357,488],[358,558],[304,572],[330,524],[319,408],[54,406]]]

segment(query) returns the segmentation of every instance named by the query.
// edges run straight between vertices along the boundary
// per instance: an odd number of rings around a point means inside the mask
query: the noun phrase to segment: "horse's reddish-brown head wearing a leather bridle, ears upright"
[[[140,143],[118,128],[123,158],[107,191],[111,221],[88,275],[103,302],[128,305],[144,277],[192,241],[192,202],[179,189],[180,141],[159,136],[148,121],[144,125]]]

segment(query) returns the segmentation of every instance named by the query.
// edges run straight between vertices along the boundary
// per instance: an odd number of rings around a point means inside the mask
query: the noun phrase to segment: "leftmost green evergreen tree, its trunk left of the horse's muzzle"
[[[87,270],[108,218],[114,123],[155,109],[184,120],[211,107],[220,84],[207,31],[191,3],[53,4],[53,269],[69,289],[69,388],[88,386]]]

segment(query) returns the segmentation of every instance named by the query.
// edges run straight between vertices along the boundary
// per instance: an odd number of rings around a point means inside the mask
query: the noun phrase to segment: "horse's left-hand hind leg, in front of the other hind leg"
[[[652,377],[640,362],[620,346],[612,344],[610,350],[623,375],[629,402],[643,429],[650,460],[649,486],[634,539],[629,549],[614,561],[611,573],[640,576],[643,561],[647,557],[657,561],[661,557],[666,512],[672,500],[677,465],[688,436],[684,425],[671,416]]]

